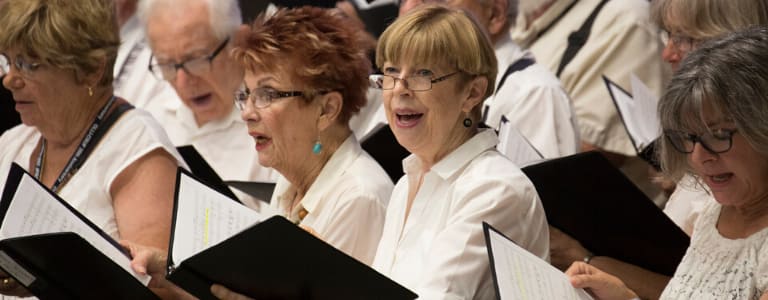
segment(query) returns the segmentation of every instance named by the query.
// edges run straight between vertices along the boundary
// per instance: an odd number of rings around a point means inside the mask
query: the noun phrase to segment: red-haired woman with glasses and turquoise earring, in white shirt
[[[270,205],[370,264],[393,184],[349,128],[350,117],[366,101],[371,63],[361,46],[364,38],[362,28],[334,11],[281,9],[260,15],[232,55],[245,69],[235,102],[259,163],[282,175]],[[161,255],[134,252],[139,271],[162,278]],[[214,287],[220,298],[233,295]]]

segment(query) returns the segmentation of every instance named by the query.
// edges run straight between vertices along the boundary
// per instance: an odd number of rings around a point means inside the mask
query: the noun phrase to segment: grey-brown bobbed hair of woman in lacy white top
[[[738,134],[768,157],[768,27],[752,27],[709,41],[691,52],[659,101],[664,130],[706,132],[704,107],[736,125]],[[687,155],[661,139],[665,175],[692,174]]]

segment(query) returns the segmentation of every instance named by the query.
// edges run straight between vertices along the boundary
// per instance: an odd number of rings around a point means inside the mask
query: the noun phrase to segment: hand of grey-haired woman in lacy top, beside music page
[[[586,289],[597,300],[629,300],[637,298],[618,278],[583,262],[575,262],[565,271],[575,288]]]

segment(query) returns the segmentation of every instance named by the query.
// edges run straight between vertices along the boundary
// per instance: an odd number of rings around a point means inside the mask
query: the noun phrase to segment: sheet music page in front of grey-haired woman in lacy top
[[[583,289],[574,288],[563,272],[546,261],[495,230],[489,229],[488,233],[501,300],[592,299]]]

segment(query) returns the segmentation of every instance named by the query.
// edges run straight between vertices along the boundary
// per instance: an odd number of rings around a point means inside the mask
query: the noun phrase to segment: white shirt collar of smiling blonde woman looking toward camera
[[[498,143],[499,138],[493,130],[480,130],[475,136],[432,166],[431,171],[444,180],[448,179],[463,169],[475,157],[496,147]],[[416,155],[411,154],[403,160],[403,170],[409,177],[419,174],[421,172],[421,160]]]

